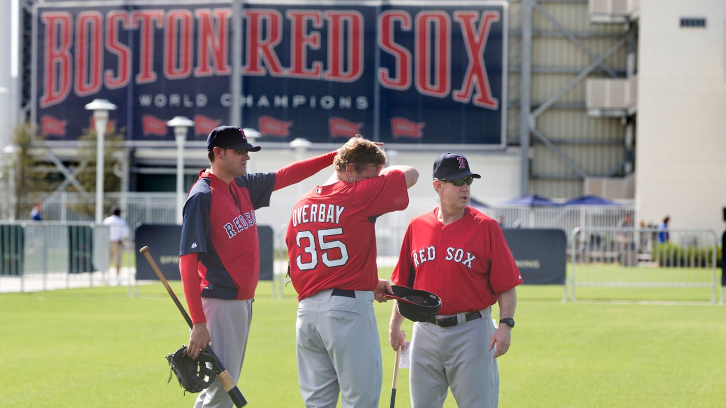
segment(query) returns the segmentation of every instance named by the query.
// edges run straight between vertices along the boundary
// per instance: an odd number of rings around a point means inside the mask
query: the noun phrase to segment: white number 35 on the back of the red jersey
[[[317,266],[318,264],[318,252],[322,253],[322,256],[320,257],[322,258],[322,263],[329,268],[345,265],[346,262],[348,262],[348,248],[346,248],[346,244],[344,244],[342,241],[333,239],[335,236],[342,234],[343,229],[340,227],[330,229],[318,229],[316,240],[313,232],[307,230],[298,231],[298,234],[295,236],[295,242],[298,244],[298,247],[303,249],[305,253],[310,254],[309,262],[303,262],[301,255],[298,255],[295,258],[295,262],[298,264],[298,269],[300,269],[301,271],[315,269],[315,266]],[[303,247],[301,245],[301,241],[307,241],[308,245]],[[335,248],[338,248],[338,250],[340,250],[340,258],[330,259],[328,254],[330,253],[330,250],[333,250]],[[335,251],[334,253],[335,256],[338,255],[338,251]]]

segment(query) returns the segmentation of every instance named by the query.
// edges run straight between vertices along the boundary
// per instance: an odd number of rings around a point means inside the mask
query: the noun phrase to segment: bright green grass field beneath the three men
[[[181,296],[181,285],[172,287]],[[240,390],[248,407],[302,407],[297,300],[290,285],[282,299],[271,290],[269,281],[260,282]],[[648,299],[649,293],[584,287],[579,302],[563,303],[561,286],[519,287],[512,346],[499,359],[499,406],[726,406],[725,306],[693,301],[710,298],[703,289],[674,290],[674,300],[688,302],[672,304],[597,300]],[[391,395],[391,306],[375,303],[383,349],[380,407],[388,407]],[[126,287],[4,293],[0,322],[1,407],[193,404],[195,394],[183,396],[176,378],[166,383],[165,356],[187,343],[188,332],[160,283],[142,285],[134,298]],[[410,328],[407,322],[404,329]],[[410,407],[408,370],[399,370],[396,407]],[[451,395],[445,407],[456,407]]]

